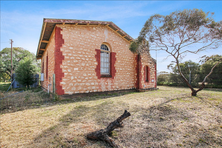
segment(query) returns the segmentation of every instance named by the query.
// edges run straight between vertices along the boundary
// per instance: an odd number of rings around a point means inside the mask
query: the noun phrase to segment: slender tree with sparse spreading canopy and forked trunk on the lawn
[[[209,16],[211,15],[211,16]],[[206,49],[218,48],[222,42],[222,21],[215,22],[213,13],[202,10],[175,11],[170,15],[153,15],[145,23],[137,40],[131,43],[131,51],[161,50],[174,58],[178,72],[192,96],[205,87],[206,78],[212,73],[215,64],[203,79],[199,89],[194,89],[181,71],[180,62],[188,54],[197,54]],[[147,41],[147,42],[145,42]],[[144,44],[145,42],[145,44]]]

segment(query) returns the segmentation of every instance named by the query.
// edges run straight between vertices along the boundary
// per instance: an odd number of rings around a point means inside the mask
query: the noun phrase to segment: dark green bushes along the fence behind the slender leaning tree
[[[186,79],[191,78],[192,86],[198,87],[199,83],[204,79],[204,77],[209,73],[211,68],[222,58],[221,55],[212,55],[206,57],[202,60],[202,65],[186,61],[180,63],[181,71],[183,72]],[[188,66],[190,65],[190,66]],[[183,79],[181,78],[177,66],[168,65],[168,68],[171,69],[171,73],[160,72],[158,75],[158,84],[159,85],[173,85],[173,86],[186,86]],[[191,75],[190,75],[191,71]],[[220,62],[214,69],[213,73],[207,78],[206,87],[217,87],[221,88],[222,84],[222,62]]]

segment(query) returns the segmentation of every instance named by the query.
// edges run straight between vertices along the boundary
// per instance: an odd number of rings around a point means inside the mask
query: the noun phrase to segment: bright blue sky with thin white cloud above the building
[[[168,15],[176,10],[202,9],[214,12],[216,21],[222,20],[222,1],[0,1],[1,44],[0,50],[23,47],[36,53],[43,18],[112,21],[131,37],[137,38],[146,20],[153,14]],[[222,47],[198,55],[188,55],[183,61],[198,62],[202,55],[222,55]],[[156,58],[156,52],[151,52]],[[157,52],[158,71],[169,71],[172,58],[165,59],[164,52]]]

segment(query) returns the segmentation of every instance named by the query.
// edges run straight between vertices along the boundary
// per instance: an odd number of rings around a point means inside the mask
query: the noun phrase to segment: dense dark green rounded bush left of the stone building
[[[35,83],[34,75],[36,74],[36,66],[33,65],[33,61],[30,58],[21,60],[15,73],[15,80],[28,89],[30,85]]]

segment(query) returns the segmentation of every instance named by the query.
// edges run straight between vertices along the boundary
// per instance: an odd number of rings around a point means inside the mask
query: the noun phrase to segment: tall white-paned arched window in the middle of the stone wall
[[[101,75],[110,75],[110,50],[105,44],[100,47],[100,73]]]

